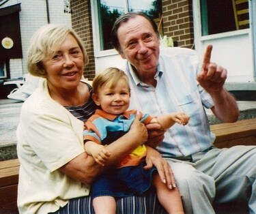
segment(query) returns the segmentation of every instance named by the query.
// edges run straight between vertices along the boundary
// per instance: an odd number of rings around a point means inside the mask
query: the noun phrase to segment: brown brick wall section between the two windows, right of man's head
[[[194,43],[192,0],[163,0],[164,34],[177,46],[192,48]]]

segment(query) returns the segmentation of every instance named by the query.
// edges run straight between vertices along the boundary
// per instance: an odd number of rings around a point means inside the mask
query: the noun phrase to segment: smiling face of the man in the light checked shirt
[[[139,75],[156,72],[160,42],[146,18],[136,16],[123,22],[117,37],[121,47],[119,54],[136,68]]]

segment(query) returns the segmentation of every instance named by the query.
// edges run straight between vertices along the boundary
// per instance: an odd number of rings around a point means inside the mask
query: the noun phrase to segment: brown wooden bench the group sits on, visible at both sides
[[[211,130],[216,134],[214,145],[218,148],[256,145],[256,118],[211,125]],[[0,213],[18,213],[18,168],[18,159],[0,162]]]

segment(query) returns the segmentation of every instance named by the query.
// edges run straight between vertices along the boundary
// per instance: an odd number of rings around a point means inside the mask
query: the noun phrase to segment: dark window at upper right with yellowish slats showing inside
[[[202,35],[247,29],[248,0],[201,0]]]

